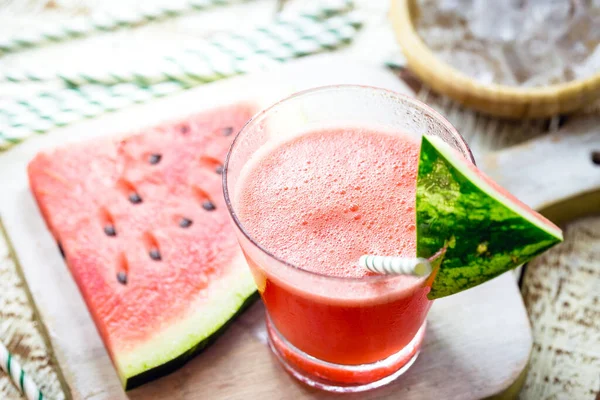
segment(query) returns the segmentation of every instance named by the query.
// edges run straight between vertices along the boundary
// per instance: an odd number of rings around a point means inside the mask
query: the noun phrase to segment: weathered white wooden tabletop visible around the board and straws
[[[58,21],[74,13],[85,13],[115,5],[135,4],[136,0],[0,0],[0,37],[39,23]],[[289,1],[295,7],[301,1]],[[391,27],[387,22],[386,1],[355,0],[357,9],[366,17],[360,35],[344,53],[358,62],[381,65],[397,51]],[[7,10],[11,11],[10,13]],[[29,11],[36,10],[32,15]],[[182,38],[206,36],[235,25],[256,25],[273,18],[275,0],[254,0],[218,10],[209,19],[186,16],[154,24],[136,31],[104,34],[102,37],[73,41],[0,58],[0,67],[30,68],[43,63],[49,68],[65,59],[82,66],[98,59],[110,60],[114,50],[127,54],[136,51],[156,52],[177,46]],[[12,12],[15,11],[16,14]],[[251,18],[247,18],[251,15]],[[240,18],[240,17],[244,18]],[[142,32],[142,34],[140,34]],[[145,36],[155,40],[142,40]],[[154,35],[154,36],[153,36]],[[142,39],[140,39],[142,38]],[[164,40],[163,40],[164,39]],[[376,45],[373,45],[376,43]],[[77,54],[78,57],[73,57]],[[96,57],[86,57],[95,55]],[[105,56],[104,56],[105,55]],[[0,84],[0,99],[22,95],[27,85]],[[558,119],[550,121],[500,121],[472,113],[448,99],[439,98],[426,89],[420,98],[440,110],[466,137],[476,158],[536,135],[548,127],[558,127]],[[598,118],[597,109],[589,111]],[[576,118],[576,117],[575,117]],[[49,133],[51,134],[51,133]],[[600,131],[598,132],[600,135]],[[600,149],[597,149],[600,150]],[[599,167],[600,168],[600,167]],[[600,170],[599,170],[600,173]],[[1,184],[1,182],[0,182]],[[1,195],[1,192],[0,192]],[[567,241],[556,251],[536,260],[527,269],[523,289],[533,331],[535,347],[523,399],[594,399],[600,396],[600,220],[588,218],[567,229]],[[0,338],[17,354],[25,368],[32,372],[44,391],[54,399],[64,398],[56,366],[40,335],[28,294],[5,240],[0,237]],[[19,394],[7,376],[0,371],[0,398],[18,399]]]

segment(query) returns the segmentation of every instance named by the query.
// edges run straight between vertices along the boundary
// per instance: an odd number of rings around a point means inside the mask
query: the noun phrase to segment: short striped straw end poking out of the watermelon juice
[[[428,276],[431,264],[426,258],[364,255],[358,263],[371,272],[384,275]]]

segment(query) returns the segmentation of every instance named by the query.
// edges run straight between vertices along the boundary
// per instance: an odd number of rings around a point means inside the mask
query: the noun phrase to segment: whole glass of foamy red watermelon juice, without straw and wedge
[[[228,155],[224,190],[267,311],[270,346],[300,381],[372,389],[406,371],[425,334],[427,278],[379,276],[363,254],[414,257],[421,135],[473,162],[424,104],[331,86],[262,111]]]

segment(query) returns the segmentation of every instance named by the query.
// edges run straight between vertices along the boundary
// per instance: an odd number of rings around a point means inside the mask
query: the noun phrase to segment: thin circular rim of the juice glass
[[[473,153],[471,152],[471,149],[469,148],[467,142],[462,137],[462,135],[460,133],[458,133],[456,128],[454,128],[454,126],[452,126],[452,124],[446,118],[444,118],[440,113],[438,113],[437,111],[435,111],[433,108],[429,107],[422,101],[417,100],[414,97],[395,92],[393,90],[384,89],[384,88],[375,87],[375,86],[356,85],[356,84],[339,84],[339,85],[318,86],[318,87],[314,87],[314,88],[310,88],[310,89],[301,90],[299,92],[295,92],[289,96],[284,97],[283,99],[278,100],[277,102],[270,105],[269,107],[266,107],[266,108],[262,109],[261,111],[259,111],[258,113],[256,113],[244,124],[244,126],[242,126],[240,131],[235,135],[235,138],[233,139],[233,142],[231,143],[231,146],[229,147],[229,150],[227,152],[227,156],[225,158],[225,163],[223,164],[222,185],[223,185],[223,195],[225,197],[225,204],[227,205],[227,210],[229,211],[229,214],[231,215],[231,218],[233,219],[233,222],[234,222],[236,228],[240,230],[242,235],[244,235],[244,237],[254,247],[256,247],[264,255],[276,260],[277,262],[285,265],[288,268],[291,268],[292,270],[298,271],[300,273],[309,274],[309,275],[319,277],[322,279],[337,280],[340,282],[372,283],[372,282],[391,281],[394,279],[398,279],[401,275],[373,275],[373,276],[364,276],[361,278],[331,276],[331,275],[321,274],[321,273],[314,272],[314,271],[309,271],[307,269],[304,269],[302,267],[294,265],[294,264],[276,256],[270,250],[266,249],[260,243],[258,243],[258,241],[256,241],[250,235],[250,233],[248,231],[246,231],[246,229],[244,228],[244,225],[239,220],[239,218],[233,208],[231,197],[229,195],[229,188],[227,186],[227,183],[228,183],[227,177],[228,177],[228,172],[229,172],[229,161],[231,158],[231,154],[235,150],[235,146],[236,146],[236,144],[238,144],[238,140],[242,136],[242,133],[244,131],[246,131],[246,129],[251,127],[256,122],[256,120],[264,117],[271,110],[273,110],[274,108],[277,108],[282,103],[288,102],[289,100],[293,100],[295,98],[302,97],[302,96],[305,96],[308,94],[313,94],[313,93],[325,93],[325,92],[329,92],[329,91],[347,90],[347,89],[370,90],[370,91],[374,91],[374,92],[386,93],[387,95],[391,95],[392,97],[396,98],[397,101],[399,101],[399,102],[409,103],[412,107],[419,109],[424,114],[429,114],[429,115],[433,116],[435,118],[436,122],[441,123],[441,125],[443,125],[452,134],[452,136],[454,136],[458,139],[458,142],[461,146],[461,151],[463,152],[463,155],[465,155],[465,157],[467,157],[467,159],[471,163],[473,163],[473,165],[476,165],[475,158],[473,157]],[[427,277],[425,277],[424,279],[427,279]]]

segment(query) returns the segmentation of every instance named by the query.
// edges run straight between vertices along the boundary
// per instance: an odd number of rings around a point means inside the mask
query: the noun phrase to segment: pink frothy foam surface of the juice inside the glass
[[[237,190],[238,217],[263,248],[299,268],[362,277],[363,254],[415,256],[418,141],[320,129],[257,154]]]

